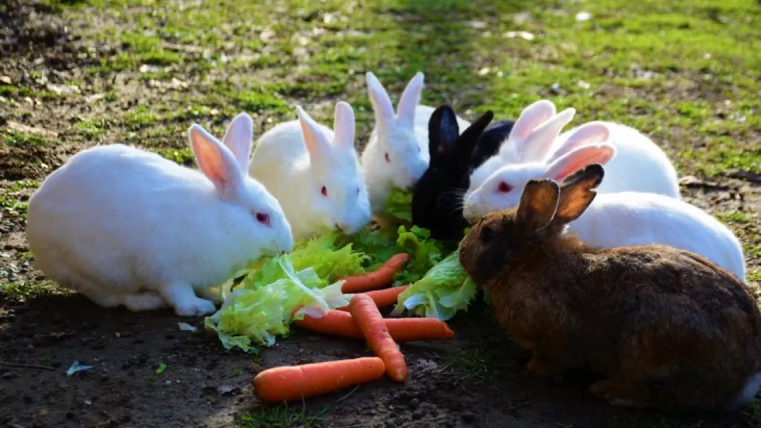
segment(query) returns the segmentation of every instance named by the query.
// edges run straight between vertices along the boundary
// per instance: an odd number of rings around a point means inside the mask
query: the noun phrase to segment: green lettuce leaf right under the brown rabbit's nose
[[[404,290],[392,313],[401,315],[406,310],[447,321],[458,311],[467,309],[475,297],[476,284],[465,273],[459,253],[455,251]]]

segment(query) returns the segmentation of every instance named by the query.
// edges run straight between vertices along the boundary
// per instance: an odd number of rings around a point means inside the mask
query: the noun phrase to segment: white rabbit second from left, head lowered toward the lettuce
[[[354,111],[336,103],[335,133],[301,109],[256,143],[250,174],[275,196],[294,239],[321,230],[355,233],[371,220],[370,202],[354,148]]]

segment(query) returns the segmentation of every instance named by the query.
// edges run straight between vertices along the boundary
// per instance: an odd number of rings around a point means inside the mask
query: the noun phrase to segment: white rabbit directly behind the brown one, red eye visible
[[[489,178],[466,200],[463,215],[474,222],[490,211],[517,207],[530,179],[561,181],[584,166],[605,165],[617,156],[612,144],[603,143],[577,147],[546,168],[537,163],[504,166],[495,174],[497,192],[487,190],[492,185]],[[658,243],[686,249],[745,281],[743,249],[737,237],[710,214],[680,198],[651,192],[600,193],[581,217],[568,224],[568,231],[593,246]]]

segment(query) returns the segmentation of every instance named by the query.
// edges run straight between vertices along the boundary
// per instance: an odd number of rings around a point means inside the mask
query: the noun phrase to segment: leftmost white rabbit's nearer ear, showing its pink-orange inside
[[[188,135],[203,175],[214,183],[217,192],[224,198],[235,198],[243,186],[244,176],[231,151],[201,125],[193,124]]]

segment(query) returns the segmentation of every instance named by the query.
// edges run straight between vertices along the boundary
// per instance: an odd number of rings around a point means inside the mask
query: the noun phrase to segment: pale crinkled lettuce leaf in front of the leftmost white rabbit
[[[237,287],[232,286],[237,278],[222,285],[222,307],[204,319],[205,328],[217,333],[225,349],[255,352],[257,346],[272,346],[276,336],[288,334],[295,318],[323,316],[349,304],[351,297],[341,292],[343,281],[327,285],[314,268],[297,271],[291,255],[266,259],[240,274],[245,276]]]

